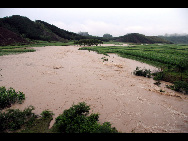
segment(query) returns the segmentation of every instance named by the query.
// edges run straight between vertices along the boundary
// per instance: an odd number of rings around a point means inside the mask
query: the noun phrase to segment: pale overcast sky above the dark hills
[[[12,15],[94,36],[188,33],[188,8],[0,8],[0,18]]]

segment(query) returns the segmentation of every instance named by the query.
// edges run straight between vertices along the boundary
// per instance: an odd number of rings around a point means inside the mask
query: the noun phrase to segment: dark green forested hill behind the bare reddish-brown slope
[[[60,29],[44,21],[32,21],[27,17],[19,15],[0,18],[0,27],[29,40],[64,42],[67,40],[78,40],[85,38],[76,33]]]

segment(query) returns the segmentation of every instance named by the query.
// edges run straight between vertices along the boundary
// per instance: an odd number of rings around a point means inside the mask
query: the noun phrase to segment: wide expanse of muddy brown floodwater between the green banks
[[[35,49],[0,56],[0,86],[26,94],[13,108],[33,105],[37,114],[49,109],[55,119],[85,101],[91,112],[100,113],[101,123],[111,122],[121,132],[188,132],[187,96],[131,74],[136,66],[156,68],[114,54],[103,62],[104,55],[74,46]]]

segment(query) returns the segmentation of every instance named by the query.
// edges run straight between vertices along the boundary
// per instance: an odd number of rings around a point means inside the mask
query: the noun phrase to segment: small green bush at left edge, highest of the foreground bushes
[[[16,92],[13,88],[0,87],[0,109],[10,107],[14,103],[22,103],[25,100],[25,94],[23,92]]]

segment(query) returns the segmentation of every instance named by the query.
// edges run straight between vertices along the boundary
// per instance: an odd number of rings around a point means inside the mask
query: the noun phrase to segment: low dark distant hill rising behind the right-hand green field
[[[147,43],[147,44],[153,44],[153,43],[167,43],[170,44],[170,41],[166,41],[165,39],[162,39],[157,36],[145,36],[143,34],[139,33],[130,33],[124,36],[120,36],[116,38],[116,41],[118,42],[131,42],[131,43]]]

